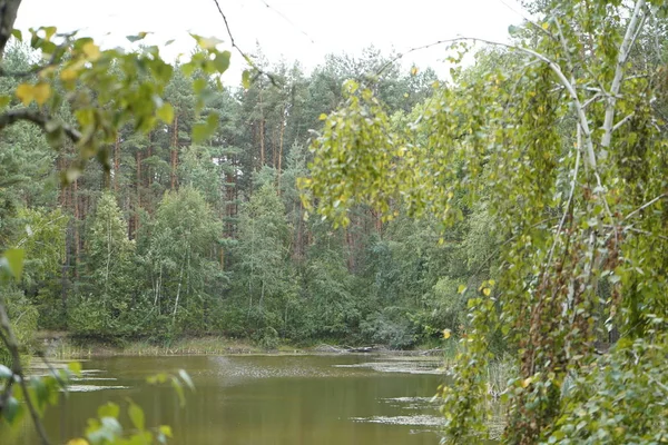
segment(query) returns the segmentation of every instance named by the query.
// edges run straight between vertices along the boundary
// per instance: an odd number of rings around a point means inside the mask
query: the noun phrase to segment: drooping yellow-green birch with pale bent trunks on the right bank
[[[348,82],[345,105],[323,117],[302,187],[335,225],[350,225],[361,202],[390,220],[397,201],[410,215],[453,225],[482,201],[498,228],[490,239],[475,233],[489,222],[471,220],[472,264],[484,268],[480,254],[499,246],[489,265],[498,283],[473,274],[461,289],[470,327],[443,389],[446,443],[479,443],[489,433],[484,369],[499,334],[518,373],[507,393],[507,443],[554,441],[556,431],[563,438],[588,426],[578,419],[583,399],[569,402],[561,388],[595,366],[597,340],[621,333],[665,354],[654,333],[666,319],[666,140],[651,80],[662,31],[646,27],[664,17],[659,6],[547,2],[539,23],[513,27],[513,44],[487,55],[504,63],[481,63],[475,76],[453,69],[453,81],[413,122],[397,127],[360,82]],[[451,49],[461,56],[465,47]],[[637,51],[657,56],[640,61]],[[602,369],[603,380],[615,378]],[[645,390],[660,393],[639,372],[628,368]],[[610,409],[632,416],[635,408]],[[595,442],[608,434],[584,431]],[[617,434],[625,443],[637,437]]]

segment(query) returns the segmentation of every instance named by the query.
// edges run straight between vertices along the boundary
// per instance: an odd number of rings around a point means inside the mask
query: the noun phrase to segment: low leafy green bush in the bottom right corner
[[[566,409],[546,437],[550,444],[666,441],[666,335],[622,339],[562,388]]]

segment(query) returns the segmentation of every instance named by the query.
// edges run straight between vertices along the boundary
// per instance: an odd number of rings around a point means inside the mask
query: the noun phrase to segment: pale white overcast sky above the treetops
[[[245,52],[253,53],[259,43],[271,61],[298,60],[307,71],[327,53],[357,55],[370,44],[405,52],[460,36],[507,41],[508,27],[521,22],[523,13],[515,0],[218,1]],[[229,47],[214,0],[23,0],[16,26],[79,30],[114,47],[128,46],[125,36],[148,31],[148,43],[176,39],[163,50],[169,59],[194,48],[188,32],[219,38],[223,48]],[[402,62],[442,72],[442,59],[443,49],[436,47],[407,55]],[[233,67],[239,68],[239,60],[234,55]]]

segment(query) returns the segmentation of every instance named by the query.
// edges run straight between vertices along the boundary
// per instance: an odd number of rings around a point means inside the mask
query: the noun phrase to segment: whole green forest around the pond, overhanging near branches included
[[[449,348],[449,444],[668,441],[668,4],[523,4],[441,79],[0,27],[0,412],[38,329],[225,336]]]

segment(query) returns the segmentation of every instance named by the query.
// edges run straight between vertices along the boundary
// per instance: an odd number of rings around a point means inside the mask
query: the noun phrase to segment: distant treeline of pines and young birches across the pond
[[[32,58],[14,46],[3,63],[20,71]],[[0,250],[26,249],[9,301],[21,332],[410,347],[460,328],[458,287],[484,269],[494,244],[484,209],[445,235],[435,217],[383,221],[364,206],[350,226],[333,228],[307,218],[296,186],[308,176],[313,131],[342,101],[345,80],[373,82],[403,125],[431,97],[435,73],[403,72],[373,48],[330,56],[310,75],[298,63],[258,60],[269,76],[248,88],[219,90],[176,70],[164,98],[173,123],[149,134],[125,128],[101,162],[82,169],[73,147],[53,151],[29,125],[3,132]],[[20,81],[0,78],[0,92]],[[209,92],[202,113],[191,85]],[[212,110],[220,116],[213,136],[193,144],[193,126],[210,122]]]

